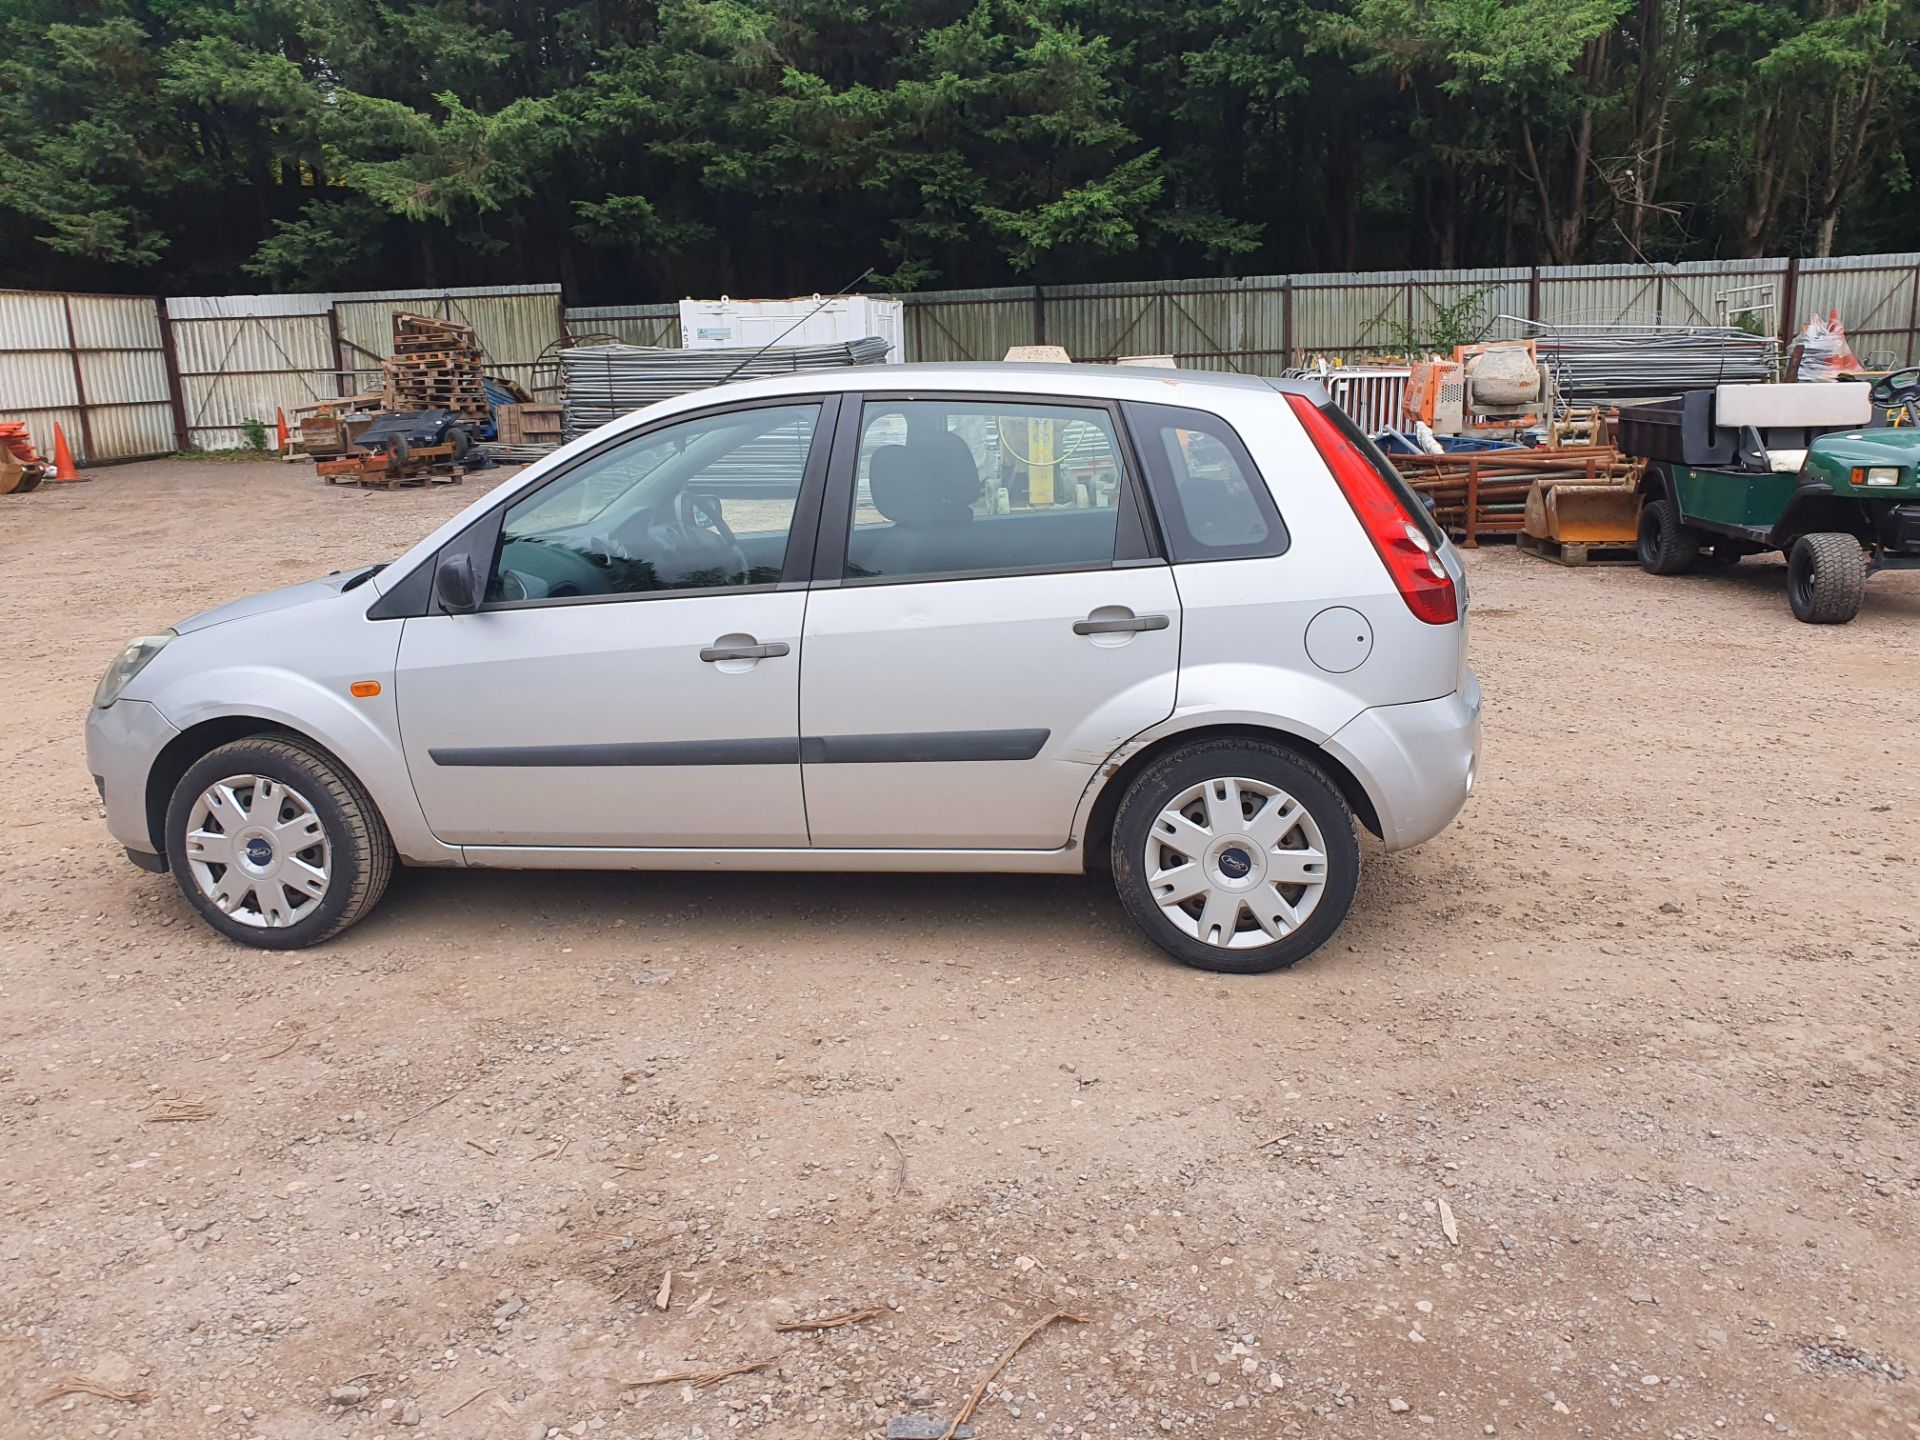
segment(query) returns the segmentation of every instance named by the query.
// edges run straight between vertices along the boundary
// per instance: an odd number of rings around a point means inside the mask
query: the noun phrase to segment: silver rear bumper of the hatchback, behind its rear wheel
[[[1377,705],[1346,722],[1327,751],[1367,789],[1388,851],[1446,829],[1473,791],[1480,764],[1480,682],[1438,701]]]

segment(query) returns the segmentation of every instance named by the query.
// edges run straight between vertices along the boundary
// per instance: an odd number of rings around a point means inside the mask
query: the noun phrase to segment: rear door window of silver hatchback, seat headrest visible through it
[[[1114,563],[1123,492],[1110,411],[870,399],[856,467],[849,580]]]

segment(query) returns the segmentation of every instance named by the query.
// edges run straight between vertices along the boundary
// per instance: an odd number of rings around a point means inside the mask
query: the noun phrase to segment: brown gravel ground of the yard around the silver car
[[[866,1436],[1054,1309],[981,1440],[1920,1434],[1920,574],[1816,630],[1778,563],[1473,555],[1480,791],[1292,973],[1060,879],[405,872],[221,941],[108,839],[100,668],[476,490],[0,501],[8,1440]]]

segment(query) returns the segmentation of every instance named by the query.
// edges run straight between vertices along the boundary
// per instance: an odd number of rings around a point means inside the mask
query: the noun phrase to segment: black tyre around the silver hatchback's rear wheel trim
[[[1227,781],[1227,778],[1233,780]],[[1165,877],[1167,874],[1156,866],[1156,856],[1165,860],[1162,847],[1188,856],[1188,866],[1206,868],[1210,864],[1208,858],[1188,854],[1183,845],[1165,839],[1160,826],[1169,804],[1179,803],[1183,795],[1210,789],[1221,781],[1235,785],[1252,781],[1252,789],[1242,791],[1244,799],[1238,804],[1256,806],[1250,831],[1256,831],[1260,839],[1240,841],[1238,835],[1213,828],[1212,820],[1202,828],[1213,833],[1215,845],[1225,847],[1217,856],[1219,870],[1225,872],[1229,862],[1233,866],[1252,864],[1258,874],[1248,877],[1248,887],[1238,895],[1221,897],[1229,906],[1240,899],[1229,922],[1238,941],[1223,935],[1221,943],[1210,943],[1202,937],[1202,929],[1206,916],[1212,914],[1212,904],[1208,904],[1212,891],[1196,893],[1188,906],[1181,906],[1156,895],[1154,876]],[[1317,874],[1304,887],[1294,887],[1290,881],[1260,883],[1275,874],[1271,868],[1275,860],[1256,858],[1261,845],[1271,839],[1269,831],[1261,829],[1261,816],[1269,814],[1263,806],[1275,799],[1290,799],[1298,806],[1294,828],[1284,829],[1279,839],[1298,839],[1302,845],[1283,845],[1273,851],[1273,856],[1284,858],[1302,847],[1313,849],[1311,841],[1319,839],[1321,858],[1304,866],[1304,872],[1317,868]],[[1212,810],[1212,803],[1204,804]],[[1185,831],[1198,837],[1202,828],[1187,826]],[[1233,824],[1231,829],[1238,831],[1238,824]],[[1359,841],[1354,835],[1354,818],[1340,789],[1317,764],[1283,745],[1258,739],[1212,739],[1160,756],[1127,785],[1119,812],[1114,816],[1112,870],[1119,902],[1162,950],[1198,970],[1260,975],[1269,970],[1284,970],[1313,954],[1346,920],[1359,885]],[[1240,876],[1246,874],[1240,870]],[[1313,899],[1311,912],[1279,939],[1260,943],[1263,927],[1254,916],[1254,908],[1265,900],[1265,891],[1281,887],[1283,900],[1304,906],[1308,889],[1313,885],[1319,887],[1319,895]],[[1198,914],[1190,906],[1200,906]],[[1181,908],[1187,910],[1185,920],[1173,914]]]

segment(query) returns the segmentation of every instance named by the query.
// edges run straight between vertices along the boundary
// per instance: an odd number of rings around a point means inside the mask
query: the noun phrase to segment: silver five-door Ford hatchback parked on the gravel
[[[315,945],[394,862],[1110,870],[1179,960],[1323,945],[1473,787],[1459,557],[1313,384],[793,374],[572,442],[390,564],[127,645],[127,856]]]

